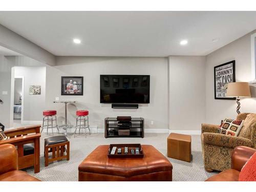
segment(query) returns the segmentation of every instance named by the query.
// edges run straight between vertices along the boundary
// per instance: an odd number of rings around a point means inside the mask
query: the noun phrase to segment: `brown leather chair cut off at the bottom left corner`
[[[40,181],[18,170],[18,153],[14,145],[0,145],[0,181]]]

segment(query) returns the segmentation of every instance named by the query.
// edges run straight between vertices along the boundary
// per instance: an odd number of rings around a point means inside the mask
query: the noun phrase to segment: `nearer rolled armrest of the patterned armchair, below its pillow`
[[[204,144],[224,146],[229,148],[234,148],[237,146],[253,147],[254,145],[253,142],[249,139],[219,133],[203,133],[201,135],[201,139]]]

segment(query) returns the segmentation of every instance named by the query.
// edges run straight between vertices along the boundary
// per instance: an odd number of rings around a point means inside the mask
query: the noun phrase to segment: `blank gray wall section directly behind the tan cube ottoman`
[[[200,131],[205,121],[205,56],[169,57],[169,129]]]

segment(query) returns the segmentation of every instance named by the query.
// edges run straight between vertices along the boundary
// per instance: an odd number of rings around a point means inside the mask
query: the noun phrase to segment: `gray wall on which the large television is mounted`
[[[104,127],[105,117],[144,117],[146,129],[168,127],[168,63],[166,57],[57,57],[56,66],[47,66],[47,109],[56,109],[58,123],[64,117],[64,104],[55,104],[55,97],[76,100],[68,105],[68,121],[75,122],[76,110],[89,110],[90,125]],[[146,74],[151,75],[151,101],[140,104],[139,109],[112,109],[111,104],[101,104],[100,74]],[[61,96],[61,76],[83,76],[83,96]],[[154,125],[151,125],[154,121]]]

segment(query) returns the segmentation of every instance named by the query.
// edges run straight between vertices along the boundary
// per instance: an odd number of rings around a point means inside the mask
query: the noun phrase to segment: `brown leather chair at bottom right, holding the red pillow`
[[[231,156],[231,168],[210,177],[206,181],[238,181],[241,169],[255,152],[254,148],[246,146],[234,148]]]

